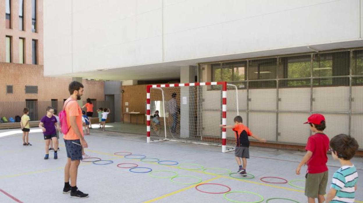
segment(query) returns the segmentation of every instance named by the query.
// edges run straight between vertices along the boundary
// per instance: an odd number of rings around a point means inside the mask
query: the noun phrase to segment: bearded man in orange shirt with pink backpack
[[[83,95],[83,85],[80,82],[73,81],[69,84],[68,90],[70,97],[64,102],[69,131],[63,136],[68,157],[64,167],[63,193],[70,192],[72,198],[86,198],[88,194],[77,190],[77,172],[82,159],[82,147],[88,147],[83,137],[82,110],[77,103],[77,100],[81,100]]]

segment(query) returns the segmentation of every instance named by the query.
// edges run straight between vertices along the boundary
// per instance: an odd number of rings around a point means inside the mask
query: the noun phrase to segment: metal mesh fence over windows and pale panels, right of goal
[[[363,50],[203,63],[199,80],[236,85],[245,125],[269,142],[305,144],[302,123],[321,113],[330,138],[350,134],[363,149]]]

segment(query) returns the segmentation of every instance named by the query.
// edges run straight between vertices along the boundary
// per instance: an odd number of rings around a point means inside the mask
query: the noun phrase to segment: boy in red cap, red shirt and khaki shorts
[[[318,202],[323,203],[328,182],[328,167],[326,166],[328,157],[326,153],[329,150],[329,137],[323,133],[326,127],[325,118],[321,114],[312,114],[305,123],[309,123],[310,130],[315,134],[307,140],[306,154],[299,163],[296,174],[299,175],[301,167],[307,164],[305,175],[307,201],[308,203],[315,203],[315,198],[318,198]]]

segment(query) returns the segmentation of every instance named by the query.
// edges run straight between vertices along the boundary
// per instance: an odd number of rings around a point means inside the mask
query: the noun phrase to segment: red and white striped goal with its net
[[[227,152],[236,145],[234,132],[219,125],[234,125],[237,115],[237,87],[227,82],[147,86],[147,142],[217,145]]]

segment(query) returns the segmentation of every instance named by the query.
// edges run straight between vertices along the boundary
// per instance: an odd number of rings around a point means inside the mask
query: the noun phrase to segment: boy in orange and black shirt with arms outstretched
[[[252,132],[242,124],[242,117],[237,115],[233,119],[235,125],[223,126],[219,125],[223,128],[229,128],[234,131],[234,136],[236,137],[236,149],[234,150],[234,156],[236,157],[237,164],[239,166],[237,173],[243,176],[247,176],[246,166],[247,166],[247,159],[249,159],[249,140],[248,136],[251,136],[257,139],[260,142],[266,142],[266,139],[261,139],[257,137],[257,135],[252,134]],[[241,158],[242,163],[241,165]]]

